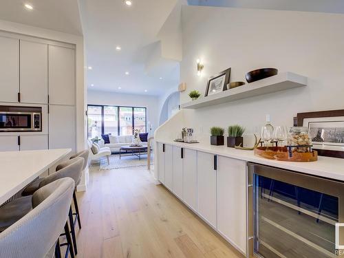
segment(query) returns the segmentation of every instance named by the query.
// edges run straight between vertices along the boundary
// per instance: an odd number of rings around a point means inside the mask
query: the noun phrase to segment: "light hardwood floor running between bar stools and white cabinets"
[[[243,257],[162,185],[145,167],[90,169],[78,193],[83,228],[77,257]]]

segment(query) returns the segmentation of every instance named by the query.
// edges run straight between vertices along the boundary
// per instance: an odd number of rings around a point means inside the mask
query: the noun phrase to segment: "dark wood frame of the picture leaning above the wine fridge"
[[[344,116],[344,109],[337,110],[327,110],[327,111],[313,111],[313,112],[303,112],[297,114],[297,125],[299,127],[303,126],[303,119],[305,118],[331,118],[336,116]],[[332,157],[332,158],[344,158],[344,151],[333,151],[330,149],[316,149],[318,155]]]

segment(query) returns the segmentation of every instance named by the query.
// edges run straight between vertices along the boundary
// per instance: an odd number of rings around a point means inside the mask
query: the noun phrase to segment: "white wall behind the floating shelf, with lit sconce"
[[[260,133],[266,114],[275,125],[292,126],[298,112],[343,109],[343,14],[183,6],[182,19],[180,74],[188,86],[181,103],[192,89],[203,95],[208,76],[228,67],[230,81],[261,67],[308,76],[308,87],[187,112],[185,120],[198,133],[234,123]],[[204,63],[201,77],[197,58]]]

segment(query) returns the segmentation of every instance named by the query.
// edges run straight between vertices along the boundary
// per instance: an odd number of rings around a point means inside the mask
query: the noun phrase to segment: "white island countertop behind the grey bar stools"
[[[50,166],[65,158],[70,151],[72,150],[49,149],[0,152],[0,205]]]

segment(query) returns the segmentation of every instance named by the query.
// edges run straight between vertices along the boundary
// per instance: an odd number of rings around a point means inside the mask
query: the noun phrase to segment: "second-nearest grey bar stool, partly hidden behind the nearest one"
[[[45,186],[46,184],[50,184],[51,182],[54,182],[55,180],[58,180],[60,178],[72,178],[74,182],[78,182],[81,177],[81,171],[83,169],[84,159],[80,157],[73,158],[72,160],[67,160],[57,166],[56,169],[58,169],[55,173],[52,173],[51,175],[48,175],[45,178],[37,178],[30,184],[22,193],[23,196],[27,197],[30,194],[33,194],[35,191],[40,189],[41,187]],[[39,182],[39,183],[37,183]],[[75,184],[74,184],[74,191],[75,193]],[[74,195],[74,194],[73,194]],[[74,202],[75,205],[75,202]],[[76,246],[76,234],[74,230],[74,219],[72,214],[72,205],[69,208],[69,224],[70,224],[70,233],[72,233],[72,240],[73,240],[73,247],[74,247],[74,253],[78,253],[78,248]],[[65,234],[63,234],[65,235]]]

